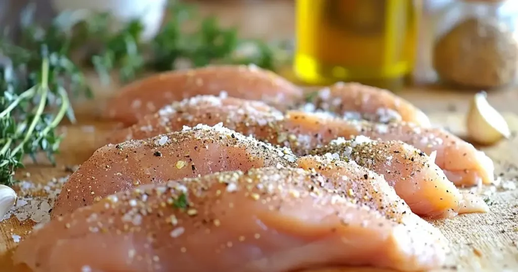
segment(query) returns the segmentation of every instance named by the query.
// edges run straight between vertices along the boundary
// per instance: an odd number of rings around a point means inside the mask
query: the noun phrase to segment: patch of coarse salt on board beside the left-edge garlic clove
[[[17,184],[19,187],[19,190],[17,190],[18,202],[0,221],[7,220],[12,216],[15,216],[18,221],[32,220],[36,223],[50,221],[50,210],[67,180],[68,176],[53,178],[46,184],[20,181]]]

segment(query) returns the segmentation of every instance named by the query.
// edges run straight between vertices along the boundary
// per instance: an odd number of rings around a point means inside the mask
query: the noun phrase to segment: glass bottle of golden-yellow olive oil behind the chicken
[[[420,0],[296,0],[294,71],[309,84],[398,89],[415,59]]]

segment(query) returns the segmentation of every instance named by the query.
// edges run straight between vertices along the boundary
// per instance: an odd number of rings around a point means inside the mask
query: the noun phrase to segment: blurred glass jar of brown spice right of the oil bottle
[[[516,82],[517,1],[455,0],[438,10],[433,20],[429,70],[424,72],[428,80],[475,90]]]

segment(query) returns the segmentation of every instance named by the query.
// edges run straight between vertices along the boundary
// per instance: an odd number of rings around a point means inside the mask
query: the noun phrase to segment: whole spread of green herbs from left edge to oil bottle
[[[168,19],[150,41],[142,39],[138,20],[118,31],[108,13],[64,12],[45,27],[33,22],[35,5],[21,18],[16,42],[0,37],[0,183],[12,184],[13,174],[28,155],[34,161],[44,153],[54,163],[62,140],[56,127],[66,117],[75,122],[69,95],[92,93],[80,66],[95,68],[107,82],[112,71],[123,82],[144,71],[192,67],[212,63],[249,64],[274,69],[272,46],[258,40],[239,39],[234,28],[220,26],[213,17],[201,18],[194,6],[172,1]],[[185,31],[194,24],[194,31]],[[243,50],[246,49],[246,50]],[[247,53],[243,53],[247,51]],[[73,58],[74,56],[74,58]],[[82,56],[82,58],[77,58]]]

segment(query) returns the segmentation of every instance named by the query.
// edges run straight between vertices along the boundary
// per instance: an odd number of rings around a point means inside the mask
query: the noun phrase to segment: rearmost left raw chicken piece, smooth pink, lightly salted
[[[286,109],[303,96],[293,83],[257,66],[215,65],[170,71],[133,82],[110,99],[104,115],[132,125],[174,101],[221,92],[261,100],[279,109]]]

